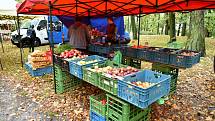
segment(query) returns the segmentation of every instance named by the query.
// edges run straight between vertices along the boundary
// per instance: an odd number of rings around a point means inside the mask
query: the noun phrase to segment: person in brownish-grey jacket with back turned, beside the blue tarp
[[[90,41],[87,25],[81,23],[81,18],[77,17],[75,23],[69,27],[68,37],[70,44],[79,50],[86,50]]]

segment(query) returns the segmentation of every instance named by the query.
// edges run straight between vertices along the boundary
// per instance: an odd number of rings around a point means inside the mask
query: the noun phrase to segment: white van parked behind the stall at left
[[[23,24],[20,26],[20,37],[23,47],[29,45],[29,39],[27,37],[27,30],[30,27],[30,25],[34,25],[34,30],[36,32],[37,39],[35,41],[35,46],[40,46],[41,44],[47,44],[48,41],[48,33],[47,33],[47,23],[48,23],[48,17],[37,17],[33,20],[26,20],[23,22]],[[18,31],[14,31],[11,34],[11,42],[16,45],[17,47],[20,47],[19,41],[18,41]]]

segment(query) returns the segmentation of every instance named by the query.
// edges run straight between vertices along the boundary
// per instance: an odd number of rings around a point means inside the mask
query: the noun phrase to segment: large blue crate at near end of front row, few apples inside
[[[171,76],[144,70],[118,80],[118,97],[139,107],[147,108],[153,102],[169,94]],[[138,87],[131,82],[150,82],[148,88]]]

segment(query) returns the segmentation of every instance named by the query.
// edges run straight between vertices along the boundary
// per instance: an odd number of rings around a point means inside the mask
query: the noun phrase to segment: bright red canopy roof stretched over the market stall
[[[49,0],[25,0],[23,14],[49,14]],[[125,16],[215,8],[215,0],[50,0],[53,15]]]

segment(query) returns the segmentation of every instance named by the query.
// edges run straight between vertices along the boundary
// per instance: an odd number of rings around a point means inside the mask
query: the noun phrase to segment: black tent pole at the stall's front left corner
[[[52,33],[52,4],[51,1],[49,1],[49,23],[50,23],[50,39],[51,39],[51,51],[52,51],[52,65],[53,65],[53,78],[54,78],[54,86],[55,86],[55,93],[57,93],[56,90],[56,80],[55,80],[55,57],[54,57],[54,39],[53,39],[53,33]]]

